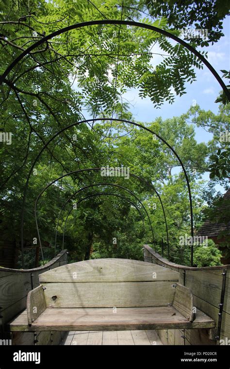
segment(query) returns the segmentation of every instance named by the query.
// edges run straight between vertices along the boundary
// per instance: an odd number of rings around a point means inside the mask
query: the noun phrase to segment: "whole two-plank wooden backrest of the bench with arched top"
[[[179,273],[129,259],[94,259],[39,275],[50,308],[167,306]]]

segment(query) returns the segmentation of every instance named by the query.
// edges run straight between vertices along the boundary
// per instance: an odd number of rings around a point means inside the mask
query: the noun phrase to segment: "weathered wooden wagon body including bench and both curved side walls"
[[[42,335],[50,344],[58,337],[57,344],[68,331],[156,330],[163,344],[214,345],[229,336],[229,267],[178,266],[146,245],[145,262],[96,259],[43,269],[26,309],[5,328],[13,344],[43,344]],[[0,282],[14,275],[4,273]]]

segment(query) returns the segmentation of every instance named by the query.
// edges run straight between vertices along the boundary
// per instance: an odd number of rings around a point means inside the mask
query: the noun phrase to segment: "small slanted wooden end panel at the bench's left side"
[[[39,285],[28,293],[26,305],[28,324],[32,324],[33,321],[46,309],[46,301],[42,285]]]

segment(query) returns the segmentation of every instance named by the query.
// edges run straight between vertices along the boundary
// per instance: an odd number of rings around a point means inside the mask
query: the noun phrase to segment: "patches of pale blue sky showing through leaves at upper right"
[[[208,61],[222,77],[220,69],[230,70],[230,17],[223,21],[223,33],[225,34],[217,43],[209,46],[208,48],[202,48],[200,50],[208,51]],[[174,43],[174,41],[172,42]],[[152,49],[153,52],[161,52],[161,49],[156,47]],[[162,61],[161,56],[153,58],[153,65]],[[131,112],[134,117],[143,122],[150,122],[156,117],[170,118],[178,117],[189,109],[193,101],[196,100],[201,109],[212,110],[214,113],[218,112],[218,104],[215,103],[215,99],[221,90],[220,85],[215,80],[210,70],[204,66],[203,69],[195,68],[197,73],[197,81],[193,84],[186,84],[186,94],[179,97],[177,96],[175,102],[171,105],[165,102],[160,109],[154,109],[150,99],[143,99],[138,97],[138,92],[135,89],[129,90],[124,97],[134,108],[131,107]],[[225,80],[225,84],[228,82]],[[198,142],[207,142],[212,137],[202,128],[196,128],[196,139]]]

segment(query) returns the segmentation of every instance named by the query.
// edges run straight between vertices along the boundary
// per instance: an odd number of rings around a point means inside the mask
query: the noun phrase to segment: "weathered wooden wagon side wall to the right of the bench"
[[[158,331],[163,344],[228,344],[230,339],[230,265],[205,268],[181,266],[168,262],[148,245],[144,245],[144,258],[149,263],[180,272],[179,283],[191,289],[195,306],[214,319],[216,324],[213,332],[203,329]],[[220,332],[219,337],[218,331]]]

